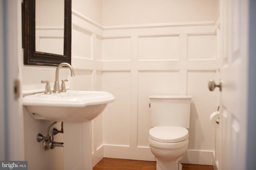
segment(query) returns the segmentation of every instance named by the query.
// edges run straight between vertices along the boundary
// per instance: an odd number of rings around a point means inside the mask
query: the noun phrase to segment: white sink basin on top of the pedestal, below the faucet
[[[114,100],[109,92],[67,90],[25,96],[22,104],[34,119],[78,123],[94,119]]]

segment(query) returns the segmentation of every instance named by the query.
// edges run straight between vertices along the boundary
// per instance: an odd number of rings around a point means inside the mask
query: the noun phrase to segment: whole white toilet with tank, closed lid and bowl
[[[182,170],[178,163],[188,148],[192,96],[149,96],[151,129],[148,142],[156,170]]]

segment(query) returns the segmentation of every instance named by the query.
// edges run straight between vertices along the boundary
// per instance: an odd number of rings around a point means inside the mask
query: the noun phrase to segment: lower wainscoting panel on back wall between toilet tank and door
[[[210,92],[208,80],[215,77],[215,70],[187,72],[187,94],[192,96],[188,149],[214,150],[215,128],[210,114],[217,111],[216,90]]]

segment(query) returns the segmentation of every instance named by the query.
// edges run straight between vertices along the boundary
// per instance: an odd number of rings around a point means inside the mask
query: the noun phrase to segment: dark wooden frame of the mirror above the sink
[[[63,55],[36,51],[36,0],[22,2],[22,47],[24,65],[58,66],[71,64],[71,0],[64,0],[64,51]]]

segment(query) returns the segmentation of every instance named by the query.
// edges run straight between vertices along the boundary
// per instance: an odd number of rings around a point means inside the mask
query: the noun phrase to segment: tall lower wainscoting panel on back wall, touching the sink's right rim
[[[103,112],[105,145],[130,146],[130,71],[104,71],[102,90],[115,96]]]

